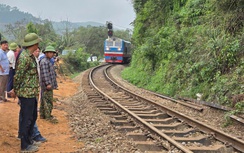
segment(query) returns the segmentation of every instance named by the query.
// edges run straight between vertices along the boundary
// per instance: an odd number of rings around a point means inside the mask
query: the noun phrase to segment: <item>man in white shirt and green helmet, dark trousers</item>
[[[9,51],[7,53],[8,61],[9,61],[9,75],[8,75],[8,85],[7,85],[7,91],[11,91],[13,89],[13,79],[15,74],[15,55],[14,53],[18,50],[20,50],[19,46],[16,43],[11,43],[9,45]]]

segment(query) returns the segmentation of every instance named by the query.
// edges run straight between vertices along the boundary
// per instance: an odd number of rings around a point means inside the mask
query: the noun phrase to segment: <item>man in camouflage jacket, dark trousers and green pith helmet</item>
[[[16,61],[14,92],[21,101],[21,152],[38,151],[38,147],[31,140],[37,119],[37,96],[39,94],[39,77],[33,52],[38,48],[41,41],[36,33],[27,34],[23,42],[25,50],[22,51],[18,61]]]

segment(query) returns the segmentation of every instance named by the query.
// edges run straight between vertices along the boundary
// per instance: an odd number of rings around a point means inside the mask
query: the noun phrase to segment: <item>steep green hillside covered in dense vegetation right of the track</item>
[[[201,93],[202,100],[244,108],[243,0],[133,3],[135,50],[125,79],[169,96]]]

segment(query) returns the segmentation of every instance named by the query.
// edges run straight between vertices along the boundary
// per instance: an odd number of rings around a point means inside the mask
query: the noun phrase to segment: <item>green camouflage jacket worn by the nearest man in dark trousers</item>
[[[39,94],[39,76],[33,54],[24,50],[16,61],[14,91],[18,97],[34,98]]]

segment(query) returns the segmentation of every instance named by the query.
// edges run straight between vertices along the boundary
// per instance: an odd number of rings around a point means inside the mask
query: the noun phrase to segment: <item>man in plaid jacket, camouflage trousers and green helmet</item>
[[[57,80],[55,70],[50,62],[50,59],[56,53],[53,46],[47,46],[44,54],[45,57],[40,61],[40,74],[41,74],[41,106],[40,118],[49,120],[52,123],[57,123],[52,114],[53,109],[53,89],[57,88]]]

